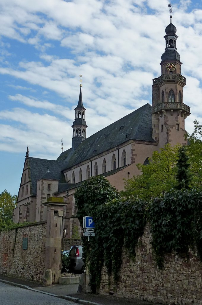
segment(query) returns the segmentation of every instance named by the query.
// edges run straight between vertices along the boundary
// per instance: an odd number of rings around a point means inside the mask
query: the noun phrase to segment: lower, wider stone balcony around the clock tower
[[[176,110],[179,109],[179,114],[181,115],[190,115],[190,107],[183,103],[160,103],[154,107],[152,107],[152,114],[158,112],[165,112],[166,110]]]

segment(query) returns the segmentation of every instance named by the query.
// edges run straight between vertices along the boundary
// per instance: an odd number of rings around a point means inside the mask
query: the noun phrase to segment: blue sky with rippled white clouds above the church
[[[71,147],[80,77],[87,137],[152,101],[161,75],[167,0],[1,0],[0,193],[18,194],[29,156]],[[185,124],[202,124],[202,0],[173,0]]]

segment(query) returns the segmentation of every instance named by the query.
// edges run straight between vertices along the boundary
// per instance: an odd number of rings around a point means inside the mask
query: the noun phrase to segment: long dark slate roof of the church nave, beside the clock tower
[[[75,151],[68,149],[57,160],[68,162],[67,169],[128,140],[155,142],[152,139],[152,106],[148,103],[85,139]]]

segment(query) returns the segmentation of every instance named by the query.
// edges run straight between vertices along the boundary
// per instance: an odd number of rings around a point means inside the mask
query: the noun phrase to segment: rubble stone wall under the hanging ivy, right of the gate
[[[108,286],[108,275],[103,268],[100,293],[113,293],[130,299],[163,304],[202,304],[202,263],[190,252],[186,255],[166,254],[164,267],[159,270],[152,259],[149,226],[139,239],[135,260],[125,252],[117,285]]]

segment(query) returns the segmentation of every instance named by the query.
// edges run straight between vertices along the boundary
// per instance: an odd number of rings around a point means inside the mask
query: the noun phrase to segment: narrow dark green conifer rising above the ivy
[[[182,145],[178,151],[178,159],[176,163],[177,173],[176,179],[178,181],[177,189],[189,188],[189,184],[191,181],[190,175],[190,163],[188,162],[189,157],[187,156],[187,147]]]

